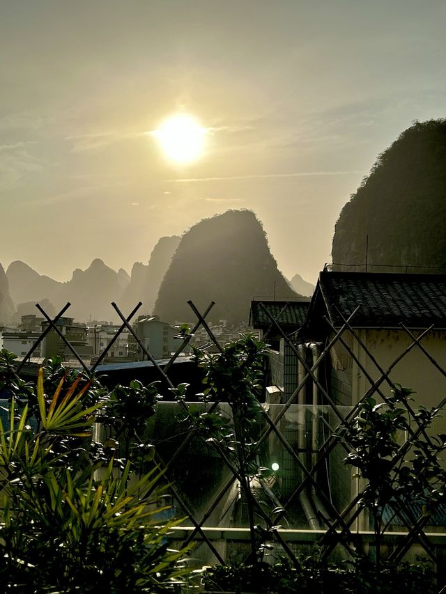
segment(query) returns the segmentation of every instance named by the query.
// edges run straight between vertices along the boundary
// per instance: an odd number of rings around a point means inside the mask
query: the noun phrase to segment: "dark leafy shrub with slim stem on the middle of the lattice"
[[[266,345],[252,335],[241,335],[229,343],[219,354],[194,350],[194,358],[203,368],[206,389],[200,396],[206,405],[204,412],[187,412],[187,420],[195,435],[215,448],[220,457],[238,478],[243,499],[247,504],[251,534],[251,557],[256,563],[261,550],[259,531],[256,530],[252,495],[252,480],[261,474],[256,449],[263,380],[263,356]],[[185,389],[176,390],[177,400],[184,400]],[[228,402],[231,418],[217,407]]]

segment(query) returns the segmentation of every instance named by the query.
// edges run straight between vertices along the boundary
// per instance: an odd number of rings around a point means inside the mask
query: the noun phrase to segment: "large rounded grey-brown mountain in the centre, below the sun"
[[[185,233],[164,276],[155,314],[167,322],[195,320],[187,301],[206,318],[231,324],[247,322],[254,296],[296,297],[270,253],[254,212],[229,210],[204,219]]]

